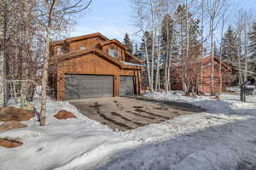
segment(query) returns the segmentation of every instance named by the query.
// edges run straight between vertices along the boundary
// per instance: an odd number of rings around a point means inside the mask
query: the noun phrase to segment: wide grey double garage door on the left
[[[113,97],[113,76],[65,75],[66,99]]]

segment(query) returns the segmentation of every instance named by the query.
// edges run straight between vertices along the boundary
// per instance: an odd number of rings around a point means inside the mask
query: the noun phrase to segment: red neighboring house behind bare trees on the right
[[[220,78],[219,78],[219,59],[218,57],[214,57],[214,71],[213,71],[213,83],[214,83],[214,91],[213,93],[216,94],[219,92],[220,88]],[[202,62],[202,65],[200,64]],[[212,77],[212,55],[209,54],[205,56],[202,61],[199,61],[195,64],[201,68],[202,66],[202,80],[201,80],[201,71],[198,71],[197,76],[195,76],[196,82],[196,91],[199,94],[211,94],[211,77]],[[177,69],[176,69],[177,70]],[[200,69],[201,70],[201,69]],[[222,87],[223,89],[226,87],[229,76],[230,76],[231,68],[228,65],[222,63]],[[196,74],[196,73],[195,73]],[[172,77],[177,77],[177,82],[172,84],[172,89],[175,90],[183,90],[183,82],[181,78],[177,74],[177,71],[172,72]]]

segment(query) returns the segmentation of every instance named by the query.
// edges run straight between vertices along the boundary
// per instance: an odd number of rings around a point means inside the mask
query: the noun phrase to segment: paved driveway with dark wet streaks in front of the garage
[[[101,122],[113,130],[120,131],[204,111],[189,104],[160,102],[143,97],[83,99],[69,102],[77,107],[84,116]]]

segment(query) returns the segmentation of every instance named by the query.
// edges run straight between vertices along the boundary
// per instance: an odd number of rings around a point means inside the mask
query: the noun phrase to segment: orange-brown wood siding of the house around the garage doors
[[[125,55],[125,49],[119,47],[119,44],[115,44],[114,42],[105,44],[104,46],[100,46],[100,43],[106,41],[101,37],[90,37],[87,39],[69,42],[68,43],[68,51],[76,52],[81,50],[80,47],[85,48],[98,48],[96,50],[101,50],[102,54],[98,54],[95,50],[92,50],[89,54],[79,54],[79,56],[63,59],[60,62],[57,62],[56,65],[51,65],[52,70],[55,71],[53,78],[56,98],[58,100],[65,99],[65,75],[66,74],[84,74],[84,75],[110,75],[114,77],[113,80],[113,97],[119,96],[119,88],[120,88],[120,76],[132,76],[136,77],[135,81],[135,92],[136,94],[140,94],[140,71],[141,67],[138,66],[121,66],[118,63],[112,61],[112,59],[108,59],[108,57],[104,57],[102,55],[108,55],[109,48],[115,48],[119,51],[119,59],[125,61],[126,57],[131,57]],[[54,54],[56,55],[56,48],[63,47],[63,44],[56,44],[54,49]],[[67,45],[67,44],[66,44]],[[72,54],[71,54],[72,55]],[[69,56],[69,54],[67,54]],[[109,56],[109,55],[108,55]],[[62,59],[61,56],[56,56],[58,59]]]

